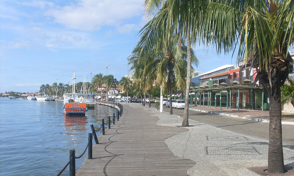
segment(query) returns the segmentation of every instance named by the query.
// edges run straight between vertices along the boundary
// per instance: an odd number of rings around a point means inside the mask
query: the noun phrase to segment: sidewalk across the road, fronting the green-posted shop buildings
[[[269,111],[258,111],[258,110],[248,110],[248,109],[242,109],[240,111],[232,109],[216,109],[216,108],[209,108],[209,107],[203,107],[203,106],[189,106],[190,110],[193,111],[201,111],[206,113],[212,113],[212,114],[220,114],[225,116],[231,116],[231,117],[237,117],[237,118],[243,118],[248,120],[255,120],[255,121],[261,121],[261,122],[267,122],[269,123]],[[282,112],[282,114],[291,114]],[[288,125],[294,125],[294,118],[290,117],[283,117],[282,116],[282,124],[288,124]]]

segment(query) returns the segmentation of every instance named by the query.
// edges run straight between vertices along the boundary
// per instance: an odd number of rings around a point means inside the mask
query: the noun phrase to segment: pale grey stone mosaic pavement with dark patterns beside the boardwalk
[[[182,124],[182,118],[176,115],[160,113],[154,108],[141,104],[129,104],[143,108],[151,116],[158,116],[160,126]],[[249,167],[267,166],[268,143],[237,133],[189,120],[189,130],[165,140],[174,155],[191,159],[196,165],[187,170],[191,176],[258,176]],[[294,150],[284,148],[284,163],[294,167]]]

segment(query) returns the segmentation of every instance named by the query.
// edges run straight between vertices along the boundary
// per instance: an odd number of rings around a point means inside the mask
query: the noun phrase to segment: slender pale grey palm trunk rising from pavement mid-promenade
[[[189,126],[189,98],[190,98],[190,85],[191,85],[191,39],[190,39],[190,26],[187,26],[187,82],[186,82],[186,98],[185,98],[185,109],[182,127]]]

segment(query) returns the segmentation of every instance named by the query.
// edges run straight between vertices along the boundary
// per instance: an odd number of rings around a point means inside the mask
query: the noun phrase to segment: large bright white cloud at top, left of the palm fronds
[[[81,0],[44,14],[70,29],[97,31],[101,26],[120,26],[123,20],[140,16],[142,4],[143,0]]]

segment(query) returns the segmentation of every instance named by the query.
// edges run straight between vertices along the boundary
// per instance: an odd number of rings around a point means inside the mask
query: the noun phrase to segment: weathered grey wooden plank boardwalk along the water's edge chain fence
[[[93,159],[86,158],[76,176],[188,175],[195,162],[173,155],[164,142],[188,129],[159,126],[156,121],[158,117],[146,110],[123,105],[121,118],[98,138]]]

